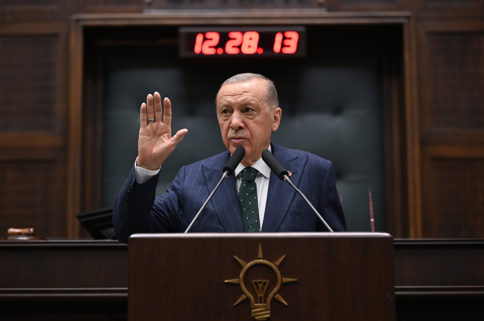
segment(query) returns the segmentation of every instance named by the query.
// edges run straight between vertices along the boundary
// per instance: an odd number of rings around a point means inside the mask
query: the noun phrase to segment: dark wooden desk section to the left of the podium
[[[0,320],[126,320],[128,246],[0,241]]]

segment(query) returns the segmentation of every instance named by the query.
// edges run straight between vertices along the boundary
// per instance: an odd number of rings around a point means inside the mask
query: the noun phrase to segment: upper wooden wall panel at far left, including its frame
[[[0,133],[65,135],[66,34],[63,23],[0,26]]]

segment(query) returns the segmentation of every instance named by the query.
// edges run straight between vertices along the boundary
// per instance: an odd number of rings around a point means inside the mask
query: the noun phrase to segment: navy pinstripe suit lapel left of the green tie
[[[230,157],[230,154],[227,153],[227,155]],[[211,168],[202,165],[202,173],[209,194],[222,177],[220,169],[224,167],[227,160],[228,158],[222,157],[221,160],[212,163]],[[241,210],[233,175],[228,176],[222,182],[213,194],[211,203],[226,232],[243,232]]]

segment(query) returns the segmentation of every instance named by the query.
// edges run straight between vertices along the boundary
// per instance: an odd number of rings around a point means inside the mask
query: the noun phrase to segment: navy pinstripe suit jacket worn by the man
[[[274,157],[334,231],[346,221],[331,161],[271,142]],[[222,177],[228,151],[183,166],[166,193],[155,197],[158,175],[137,184],[134,167],[116,197],[113,225],[127,243],[133,233],[184,232]],[[234,176],[229,176],[192,226],[191,232],[243,232]],[[316,214],[289,184],[271,173],[261,232],[326,231]]]

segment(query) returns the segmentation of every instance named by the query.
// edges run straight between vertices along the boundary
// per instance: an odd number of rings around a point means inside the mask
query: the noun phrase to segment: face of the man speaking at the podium
[[[227,150],[245,148],[244,166],[251,166],[271,143],[271,132],[281,120],[281,108],[266,103],[266,81],[254,79],[224,85],[217,98],[217,120]]]

